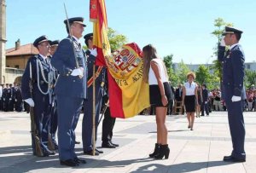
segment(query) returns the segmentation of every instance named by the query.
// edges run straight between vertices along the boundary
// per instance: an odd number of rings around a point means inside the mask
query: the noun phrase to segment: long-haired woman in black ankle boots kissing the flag
[[[157,57],[151,44],[143,48],[143,80],[149,83],[150,104],[155,107],[157,142],[150,158],[168,159],[170,149],[167,144],[166,112],[172,100],[172,91],[164,62]]]

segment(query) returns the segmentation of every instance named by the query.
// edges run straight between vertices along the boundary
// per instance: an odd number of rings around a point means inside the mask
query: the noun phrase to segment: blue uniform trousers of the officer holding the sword
[[[59,158],[61,160],[75,159],[77,156],[74,151],[73,127],[77,124],[75,118],[81,112],[83,98],[57,95],[57,102]]]

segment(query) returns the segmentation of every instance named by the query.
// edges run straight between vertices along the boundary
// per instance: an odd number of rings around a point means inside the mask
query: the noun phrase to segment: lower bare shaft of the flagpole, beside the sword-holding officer
[[[95,128],[95,118],[96,118],[96,110],[95,110],[95,64],[93,65],[93,82],[92,82],[92,155],[95,156],[95,141],[96,141],[96,128]]]

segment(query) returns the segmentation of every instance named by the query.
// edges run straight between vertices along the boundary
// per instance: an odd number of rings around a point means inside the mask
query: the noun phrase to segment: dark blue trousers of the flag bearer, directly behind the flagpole
[[[84,151],[92,150],[92,89],[90,86],[88,89],[88,100],[84,101],[84,118],[82,123],[82,140],[83,140],[83,148]],[[96,118],[95,122],[98,124],[99,115],[102,108],[102,87],[100,84],[97,86],[96,84]],[[96,134],[97,134],[97,126],[96,126]]]

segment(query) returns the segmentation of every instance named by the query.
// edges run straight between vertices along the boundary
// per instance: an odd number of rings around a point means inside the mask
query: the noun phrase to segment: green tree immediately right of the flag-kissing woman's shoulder
[[[165,56],[164,63],[166,65],[168,78],[171,81],[172,86],[177,86],[177,75],[173,72],[173,69],[172,69],[172,58],[173,58],[173,55]]]

